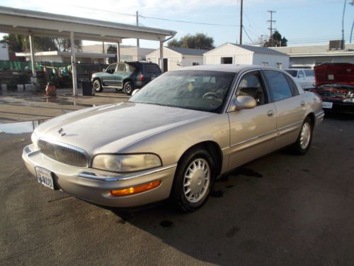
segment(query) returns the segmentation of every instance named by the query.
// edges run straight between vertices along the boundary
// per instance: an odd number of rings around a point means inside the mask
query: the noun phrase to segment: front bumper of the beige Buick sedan
[[[65,165],[42,155],[35,145],[23,149],[23,160],[31,174],[36,176],[35,167],[53,173],[55,185],[64,192],[95,204],[115,207],[132,207],[167,199],[171,192],[177,165],[168,165],[154,170],[130,174],[118,174]],[[161,181],[159,187],[129,196],[112,196],[110,190],[135,187],[153,181]]]

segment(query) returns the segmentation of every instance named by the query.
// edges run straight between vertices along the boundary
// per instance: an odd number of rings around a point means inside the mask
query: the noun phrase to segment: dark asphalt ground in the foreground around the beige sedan
[[[222,177],[192,214],[43,187],[21,160],[38,123],[0,126],[0,265],[353,265],[353,116],[326,117],[307,155],[280,150]]]

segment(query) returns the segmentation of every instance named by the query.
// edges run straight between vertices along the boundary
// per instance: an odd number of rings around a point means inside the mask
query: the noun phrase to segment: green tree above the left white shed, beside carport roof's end
[[[181,40],[173,39],[167,44],[168,47],[195,48],[210,50],[215,48],[214,39],[204,33],[196,33],[195,35],[184,35]]]

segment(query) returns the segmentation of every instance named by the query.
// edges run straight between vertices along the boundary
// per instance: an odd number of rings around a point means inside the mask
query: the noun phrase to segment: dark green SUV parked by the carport
[[[119,62],[109,65],[103,72],[92,75],[93,89],[102,92],[113,87],[118,92],[131,95],[134,89],[140,89],[161,74],[159,65],[152,62]]]

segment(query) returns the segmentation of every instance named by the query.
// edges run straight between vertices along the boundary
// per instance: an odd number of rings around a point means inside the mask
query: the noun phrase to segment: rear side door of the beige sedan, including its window
[[[306,103],[292,79],[277,70],[262,70],[277,115],[275,148],[295,143],[304,120]]]

